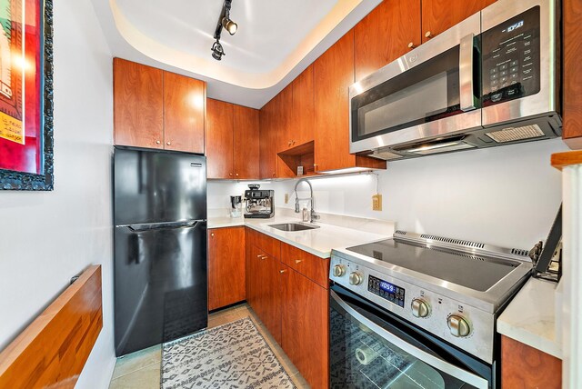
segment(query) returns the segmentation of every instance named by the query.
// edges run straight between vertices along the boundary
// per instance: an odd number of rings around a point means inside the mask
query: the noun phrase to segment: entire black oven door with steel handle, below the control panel
[[[491,387],[491,365],[459,352],[340,285],[330,297],[332,388]]]

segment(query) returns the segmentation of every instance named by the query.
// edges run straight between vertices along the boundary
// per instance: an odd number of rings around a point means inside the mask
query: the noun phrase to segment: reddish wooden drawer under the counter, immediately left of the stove
[[[281,244],[281,261],[326,289],[329,287],[329,258],[321,258],[292,245]]]

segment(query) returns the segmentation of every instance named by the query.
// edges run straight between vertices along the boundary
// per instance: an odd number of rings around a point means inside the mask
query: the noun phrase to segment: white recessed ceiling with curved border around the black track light
[[[381,0],[233,0],[236,35],[223,31],[223,0],[92,0],[114,56],[206,81],[208,97],[260,108]]]

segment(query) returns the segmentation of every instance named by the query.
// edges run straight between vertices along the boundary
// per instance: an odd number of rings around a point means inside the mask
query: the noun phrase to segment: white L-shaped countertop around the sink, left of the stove
[[[270,219],[244,219],[230,217],[209,217],[208,228],[234,227],[246,225],[259,233],[274,237],[321,258],[329,258],[334,247],[366,244],[391,237],[388,234],[373,234],[353,228],[317,223],[319,228],[306,231],[285,232],[269,227],[270,224],[297,223],[296,218],[276,216]]]

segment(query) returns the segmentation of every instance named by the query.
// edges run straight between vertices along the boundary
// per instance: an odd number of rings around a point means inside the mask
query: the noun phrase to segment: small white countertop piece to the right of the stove
[[[497,318],[497,332],[561,359],[556,287],[556,283],[530,278]]]

